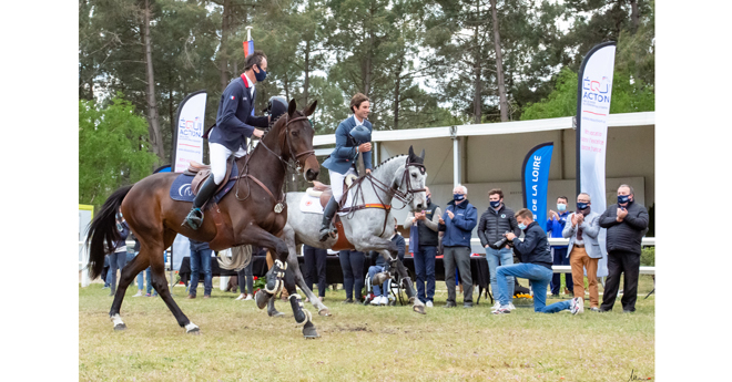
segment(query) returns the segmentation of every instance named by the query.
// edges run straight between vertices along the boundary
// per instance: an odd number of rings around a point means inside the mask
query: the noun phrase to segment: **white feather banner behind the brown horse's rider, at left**
[[[177,106],[177,130],[173,136],[173,173],[182,173],[191,161],[203,163],[203,120],[206,91],[189,94]]]

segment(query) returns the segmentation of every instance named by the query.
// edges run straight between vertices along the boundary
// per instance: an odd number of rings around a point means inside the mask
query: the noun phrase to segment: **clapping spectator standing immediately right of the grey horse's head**
[[[404,221],[410,227],[409,251],[415,259],[415,273],[417,273],[417,298],[428,308],[433,307],[435,298],[435,257],[439,244],[439,217],[441,210],[433,203],[433,193],[427,193],[427,207],[421,213],[409,213]],[[426,287],[426,288],[425,288]]]

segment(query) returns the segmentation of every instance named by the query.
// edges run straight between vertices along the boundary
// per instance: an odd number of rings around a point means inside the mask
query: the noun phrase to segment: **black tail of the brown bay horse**
[[[89,248],[89,277],[93,280],[102,273],[104,269],[104,255],[114,250],[114,244],[121,238],[116,229],[116,214],[120,210],[122,200],[128,195],[132,185],[124,186],[112,193],[104,202],[102,209],[94,216],[89,224],[87,233],[87,246]],[[105,250],[105,248],[108,250]]]

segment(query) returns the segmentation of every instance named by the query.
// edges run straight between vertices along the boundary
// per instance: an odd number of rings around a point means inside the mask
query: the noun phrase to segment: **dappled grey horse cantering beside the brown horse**
[[[372,172],[372,177],[377,182],[373,182],[368,176],[363,179],[360,192],[363,193],[363,202],[360,196],[355,203],[358,204],[384,204],[390,205],[395,192],[397,195],[405,195],[407,205],[410,210],[420,211],[427,205],[427,195],[424,190],[425,182],[427,180],[427,172],[424,171],[425,153],[421,156],[414,155],[411,147],[409,147],[409,155],[398,155],[383,162],[378,167]],[[408,167],[407,164],[410,164]],[[405,174],[406,171],[406,174]],[[385,192],[383,186],[379,188],[379,182],[386,185],[388,192]],[[348,190],[353,199],[356,187],[352,186]],[[417,189],[418,192],[414,192]],[[296,247],[301,244],[306,244],[311,247],[328,249],[336,242],[335,238],[329,238],[326,241],[318,240],[318,233],[321,229],[321,221],[323,221],[323,214],[303,213],[299,209],[301,199],[305,193],[287,193],[287,224],[283,229],[281,238],[287,244],[289,256],[287,257],[288,267],[294,270],[294,276],[299,288],[305,296],[311,300],[311,303],[317,308],[321,316],[331,316],[328,308],[321,302],[321,300],[307,288],[303,273],[297,264]],[[404,197],[399,197],[404,199]],[[346,204],[345,207],[348,207]],[[384,214],[389,214],[385,219]],[[354,245],[356,250],[368,252],[369,250],[378,251],[390,264],[396,267],[396,270],[401,276],[405,283],[405,289],[409,301],[414,302],[413,309],[419,313],[425,313],[425,307],[419,299],[415,298],[416,293],[411,286],[411,280],[407,275],[406,268],[397,258],[397,249],[390,237],[394,235],[394,216],[390,211],[380,208],[364,208],[358,209],[346,216],[340,216],[343,221],[343,229],[348,240]],[[386,227],[384,226],[386,221]],[[271,317],[281,317],[283,313],[278,312],[274,307],[274,298],[271,298],[267,304],[267,313]]]

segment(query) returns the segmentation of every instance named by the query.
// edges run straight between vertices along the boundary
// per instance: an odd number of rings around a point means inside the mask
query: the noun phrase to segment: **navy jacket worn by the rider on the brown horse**
[[[254,96],[250,95],[250,89],[241,76],[228,83],[221,95],[216,125],[209,132],[209,142],[218,143],[236,152],[242,146],[246,147],[246,138],[252,136],[255,126],[267,127],[266,116],[252,115]]]

